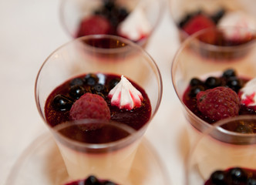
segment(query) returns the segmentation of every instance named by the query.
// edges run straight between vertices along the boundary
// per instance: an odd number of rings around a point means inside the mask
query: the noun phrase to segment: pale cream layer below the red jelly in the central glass
[[[124,184],[129,176],[139,143],[140,140],[137,140],[120,150],[106,153],[83,153],[72,150],[62,143],[57,144],[71,179],[79,180],[95,175],[100,179]]]

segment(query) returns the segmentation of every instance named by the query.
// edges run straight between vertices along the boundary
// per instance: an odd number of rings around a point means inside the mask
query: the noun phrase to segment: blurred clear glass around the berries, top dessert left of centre
[[[163,0],[62,0],[60,4],[59,14],[63,29],[72,38],[76,38],[79,24],[83,20],[83,18],[93,15],[93,13],[96,12],[96,9],[103,6],[103,4],[106,2],[114,2],[120,8],[126,8],[126,10],[130,12],[130,14],[138,8],[143,11],[147,21],[147,25],[150,25],[150,29],[148,30],[149,32],[147,33],[147,35],[144,35],[140,39],[130,39],[133,40],[133,42],[138,43],[139,45],[145,46],[163,16]],[[136,24],[130,26],[137,27],[145,25],[145,21],[143,21],[143,19],[141,18],[136,18],[135,22]],[[116,33],[113,34],[116,35]],[[118,34],[118,36],[120,35]]]

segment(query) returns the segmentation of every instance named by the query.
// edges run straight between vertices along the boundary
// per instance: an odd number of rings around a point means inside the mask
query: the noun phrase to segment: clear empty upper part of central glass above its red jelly
[[[94,72],[126,76],[147,92],[152,112],[149,121],[134,134],[140,142],[160,106],[160,71],[150,55],[139,45],[113,35],[87,35],[72,40],[56,49],[45,60],[35,81],[35,102],[46,126],[49,124],[45,119],[45,101],[52,90],[67,79]],[[49,130],[53,131],[54,128],[49,126]],[[133,149],[135,151],[135,148]],[[120,150],[120,153],[122,151]],[[76,150],[72,154],[76,156]]]

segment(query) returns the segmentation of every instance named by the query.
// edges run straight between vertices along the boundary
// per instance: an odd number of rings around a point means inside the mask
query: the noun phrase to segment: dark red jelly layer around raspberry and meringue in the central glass
[[[107,95],[110,89],[113,89],[113,86],[115,86],[119,81],[120,76],[102,73],[85,74],[67,80],[60,86],[56,87],[56,89],[54,89],[49,95],[48,99],[46,99],[45,119],[47,123],[50,126],[56,126],[59,123],[69,121],[69,109],[72,106],[72,103],[74,103],[76,99],[79,99],[81,94],[86,92],[96,93],[103,96],[110,109],[110,119],[116,122],[125,123],[126,125],[133,127],[135,130],[140,130],[140,128],[148,122],[151,116],[150,99],[144,89],[138,86],[135,82],[130,81],[143,95],[142,106],[131,110],[119,109],[116,106],[111,106],[110,99],[107,98]],[[73,86],[78,86],[78,88],[73,90]],[[81,93],[79,89],[83,89],[85,92]],[[54,99],[56,96],[62,96],[66,99],[67,103],[65,108],[56,108],[56,105],[54,105]]]

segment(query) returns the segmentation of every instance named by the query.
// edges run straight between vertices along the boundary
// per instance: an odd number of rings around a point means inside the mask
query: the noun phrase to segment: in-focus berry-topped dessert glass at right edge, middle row
[[[192,134],[191,140],[218,120],[256,114],[254,39],[243,45],[225,47],[200,42],[202,36],[209,33],[234,30],[237,28],[197,32],[183,42],[173,58],[173,87],[190,123],[187,128]],[[241,29],[244,30],[247,29]],[[254,37],[254,32],[249,35]]]

